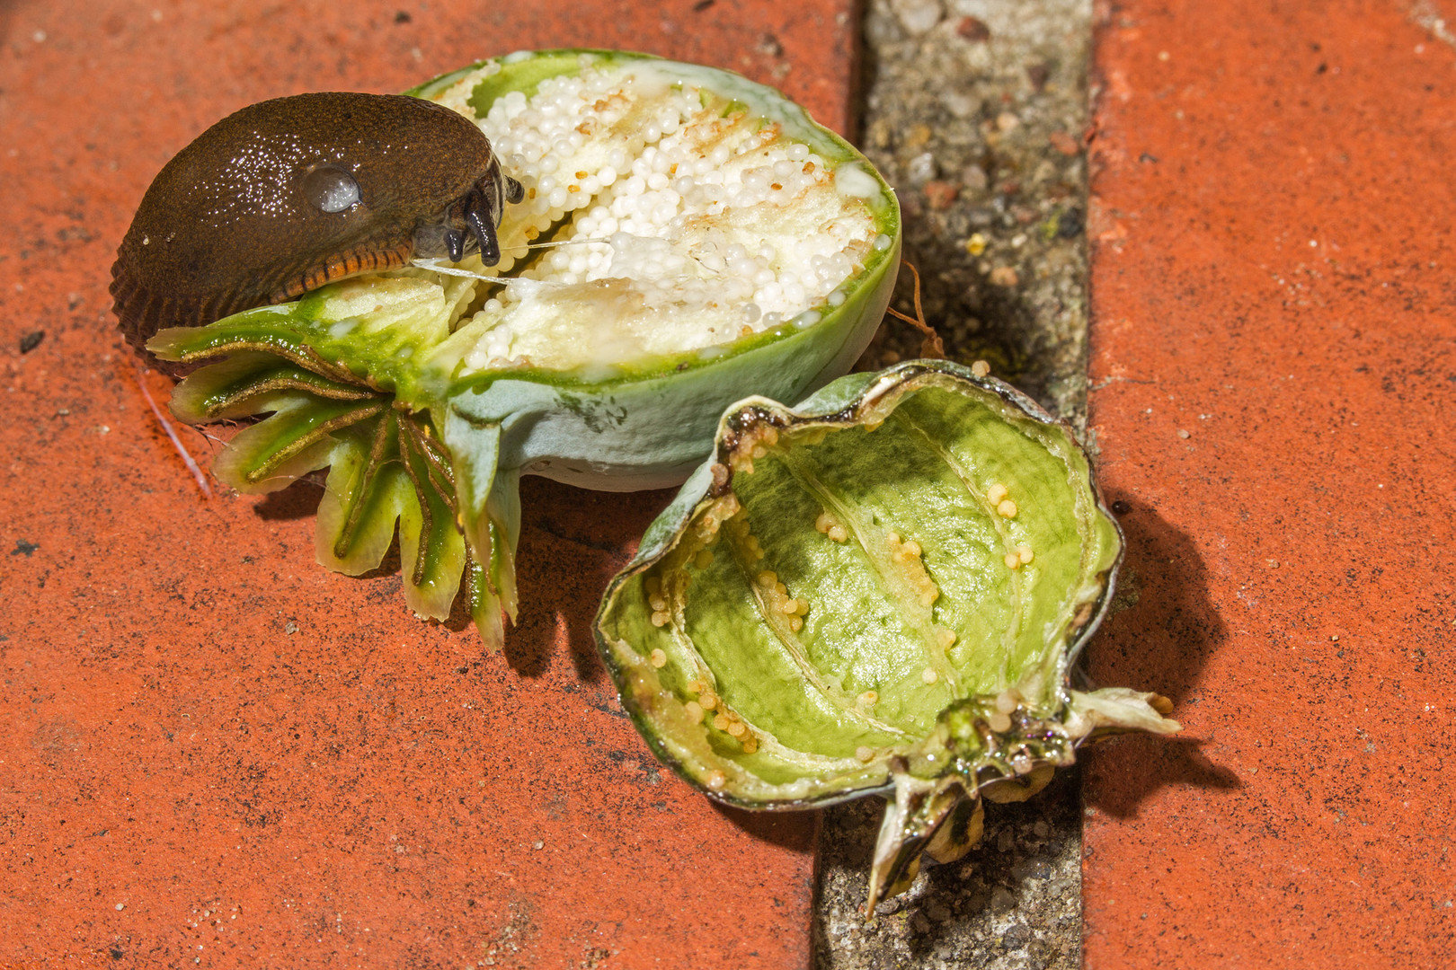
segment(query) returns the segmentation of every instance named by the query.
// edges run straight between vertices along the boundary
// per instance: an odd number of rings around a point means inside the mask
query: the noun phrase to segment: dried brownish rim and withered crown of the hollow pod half
[[[689,707],[702,700],[702,685],[711,685],[711,707],[722,716],[731,713],[729,695],[754,695],[753,702],[759,702],[761,708],[761,697],[780,689],[767,682],[728,684],[721,679],[725,676],[722,669],[713,669],[711,663],[700,666],[708,662],[693,644],[693,636],[699,630],[709,640],[754,643],[750,627],[759,617],[751,606],[744,608],[741,622],[745,625],[738,633],[732,627],[719,628],[724,622],[721,612],[708,614],[705,606],[699,606],[697,620],[687,612],[693,589],[708,582],[702,566],[695,574],[686,572],[690,557],[715,548],[722,556],[728,541],[719,541],[719,537],[731,535],[738,509],[747,506],[753,512],[744,522],[763,522],[759,518],[763,515],[785,515],[782,506],[766,509],[760,505],[754,509],[750,493],[744,493],[745,497],[740,502],[740,490],[751,484],[741,476],[745,470],[748,476],[753,474],[751,460],[745,461],[745,454],[756,445],[763,451],[763,442],[769,441],[767,451],[772,452],[775,446],[785,449],[783,464],[789,465],[792,462],[786,452],[801,446],[795,442],[802,441],[795,438],[796,433],[810,429],[878,428],[895,407],[925,388],[949,390],[986,401],[987,409],[1002,409],[1010,422],[1042,429],[1053,448],[1060,449],[1048,454],[1064,455],[1061,460],[1066,461],[1070,477],[1085,480],[1083,497],[1076,500],[1076,508],[1080,509],[1077,518],[1086,522],[1086,529],[1073,599],[1067,601],[1072,608],[1064,612],[1066,620],[1060,627],[1047,627],[1048,636],[1054,636],[1045,643],[1044,656],[1024,663],[1016,679],[992,688],[989,694],[952,695],[920,736],[906,737],[903,743],[872,752],[869,759],[859,759],[865,763],[833,755],[836,747],[844,750],[852,743],[840,740],[833,726],[804,727],[801,736],[820,731],[815,737],[821,745],[817,747],[789,746],[786,753],[767,747],[763,755],[756,753],[757,742],[751,750],[738,749],[725,737],[705,733],[708,718],[700,710]],[[764,429],[773,430],[770,438],[764,438]],[[753,454],[761,460],[759,451]],[[775,508],[780,510],[775,512]],[[808,519],[802,526],[805,541],[795,541],[788,551],[802,553],[799,558],[812,563],[811,551],[804,550],[823,540],[808,532],[807,522]],[[729,551],[735,554],[735,550]],[[785,547],[780,544],[775,551],[782,554]],[[868,545],[865,551],[869,553]],[[1072,665],[1108,608],[1120,561],[1121,532],[1102,505],[1086,457],[1066,425],[1056,422],[1034,401],[1000,381],[977,378],[967,368],[943,361],[907,362],[881,374],[840,378],[792,409],[761,397],[729,407],[719,422],[713,458],[699,467],[673,505],[651,525],[638,556],[613,579],[603,596],[596,622],[597,646],[617,685],[623,708],[649,747],[709,797],[747,809],[811,807],[865,794],[890,797],[872,868],[872,909],[884,894],[913,878],[923,851],[946,861],[970,848],[978,832],[981,794],[992,800],[1019,800],[1034,794],[1050,779],[1053,768],[1072,763],[1077,745],[1092,736],[1118,730],[1178,730],[1175,721],[1162,717],[1168,705],[1156,695],[1121,688],[1092,692],[1072,689]],[[772,563],[769,560],[769,566]],[[661,608],[635,605],[651,598],[652,582],[660,589],[667,589],[674,569],[687,576],[677,586],[686,590],[681,601]],[[759,567],[748,569],[751,572]],[[646,593],[642,592],[644,588]],[[801,588],[814,589],[815,585],[804,580]],[[818,588],[823,589],[823,585]],[[660,595],[667,599],[665,593]],[[654,620],[648,627],[642,620],[644,609],[661,609],[655,615],[661,615],[665,622]],[[676,618],[670,617],[674,611]],[[763,615],[767,618],[767,612]],[[667,622],[673,624],[674,633],[658,637],[654,627],[665,628]],[[692,653],[684,654],[674,646],[684,640]],[[890,668],[893,666],[891,663]],[[745,668],[740,665],[725,669]],[[805,676],[837,678],[844,676],[844,670],[820,669],[807,672]],[[821,688],[804,689],[814,692]],[[764,745],[776,743],[773,733],[761,721],[751,723],[753,720],[743,716],[748,729],[744,736],[761,736]]]

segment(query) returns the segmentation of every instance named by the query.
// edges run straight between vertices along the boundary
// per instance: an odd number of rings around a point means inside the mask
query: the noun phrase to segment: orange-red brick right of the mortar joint
[[[1093,970],[1456,966],[1443,10],[1099,6],[1092,669],[1187,736],[1091,755]]]

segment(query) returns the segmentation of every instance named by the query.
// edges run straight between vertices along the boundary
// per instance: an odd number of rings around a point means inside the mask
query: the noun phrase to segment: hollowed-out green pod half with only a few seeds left
[[[1178,730],[1152,694],[1075,691],[1121,557],[1070,429],[948,362],[732,406],[601,602],[597,643],[652,750],[721,801],[888,793],[869,907],[978,838],[1095,733]]]

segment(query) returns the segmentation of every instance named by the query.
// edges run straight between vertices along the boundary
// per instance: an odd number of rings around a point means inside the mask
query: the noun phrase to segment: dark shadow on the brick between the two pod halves
[[[515,550],[520,615],[518,624],[505,631],[505,659],[518,675],[545,673],[563,637],[582,681],[606,678],[593,633],[597,604],[673,494],[587,492],[546,478],[521,478],[521,538]]]

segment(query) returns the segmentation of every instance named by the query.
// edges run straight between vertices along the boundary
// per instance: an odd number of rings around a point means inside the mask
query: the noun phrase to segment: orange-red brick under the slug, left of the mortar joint
[[[843,128],[849,7],[0,7],[0,967],[807,964],[814,817],[660,769],[591,646],[664,493],[527,480],[521,625],[485,654],[316,566],[316,487],[204,500],[106,284],[156,170],[245,103],[593,45]]]

